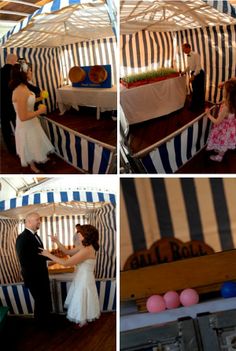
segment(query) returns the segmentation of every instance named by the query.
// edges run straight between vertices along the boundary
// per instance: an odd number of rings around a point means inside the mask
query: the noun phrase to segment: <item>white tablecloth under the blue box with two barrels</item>
[[[97,119],[100,111],[117,109],[117,89],[112,88],[74,88],[65,86],[57,89],[56,99],[60,113],[65,113],[70,107],[78,109],[78,106],[94,106],[97,108]]]

